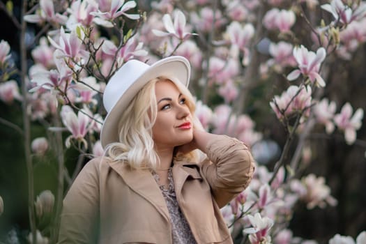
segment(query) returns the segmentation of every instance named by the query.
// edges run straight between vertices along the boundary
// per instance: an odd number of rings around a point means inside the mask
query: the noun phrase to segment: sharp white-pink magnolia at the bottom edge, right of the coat
[[[252,244],[271,243],[269,230],[273,227],[273,220],[268,217],[261,217],[260,213],[247,215],[252,228],[243,230],[243,234],[250,234],[249,241]]]

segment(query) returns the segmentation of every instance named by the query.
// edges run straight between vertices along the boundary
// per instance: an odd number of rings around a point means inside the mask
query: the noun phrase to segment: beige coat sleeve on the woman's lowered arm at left
[[[97,243],[100,158],[86,163],[63,199],[58,243]]]

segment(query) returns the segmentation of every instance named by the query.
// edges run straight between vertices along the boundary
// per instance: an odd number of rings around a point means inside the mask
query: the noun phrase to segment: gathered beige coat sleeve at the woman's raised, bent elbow
[[[208,159],[201,162],[202,174],[222,208],[249,185],[254,173],[254,159],[243,142],[226,135],[208,142],[206,155]]]

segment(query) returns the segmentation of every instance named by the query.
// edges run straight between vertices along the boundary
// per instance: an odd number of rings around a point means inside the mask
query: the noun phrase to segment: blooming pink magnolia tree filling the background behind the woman
[[[288,227],[298,202],[309,209],[337,204],[323,176],[303,174],[312,160],[311,132],[322,126],[328,137],[342,133],[345,144],[365,146],[357,139],[363,109],[332,100],[327,89],[332,64],[353,59],[365,43],[365,2],[148,2],[23,1],[20,19],[11,1],[0,3],[20,30],[19,67],[13,65],[9,43],[0,43],[0,99],[22,106],[23,128],[6,118],[0,121],[24,136],[29,242],[56,241],[65,190],[87,159],[103,153],[101,97],[109,78],[130,59],[153,63],[181,55],[192,66],[190,90],[204,128],[237,137],[257,159],[250,186],[222,208],[232,238],[238,243],[317,243],[293,236]],[[27,26],[39,31],[30,49],[24,43]],[[256,100],[264,102],[259,106]],[[268,145],[265,131],[256,128],[260,109],[283,125],[286,137],[277,158],[278,144]],[[33,123],[47,132],[31,141]],[[74,172],[65,166],[70,150],[79,152]],[[47,151],[56,155],[58,188],[36,197],[33,160]],[[270,160],[274,167],[263,165]],[[6,204],[0,197],[0,215]],[[10,236],[13,242],[8,242],[17,243],[17,236]],[[329,243],[366,243],[366,232],[335,234]]]

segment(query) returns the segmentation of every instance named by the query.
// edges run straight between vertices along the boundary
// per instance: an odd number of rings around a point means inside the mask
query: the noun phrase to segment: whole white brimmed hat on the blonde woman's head
[[[109,79],[103,94],[103,105],[107,110],[100,132],[103,148],[112,142],[118,142],[117,130],[121,114],[132,98],[151,79],[161,76],[188,86],[190,63],[183,56],[169,56],[151,66],[142,61],[130,60]]]

